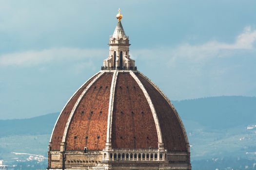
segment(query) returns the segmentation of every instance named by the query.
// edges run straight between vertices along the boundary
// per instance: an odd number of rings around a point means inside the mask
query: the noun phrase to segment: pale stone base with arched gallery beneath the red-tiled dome
[[[113,150],[113,152],[51,152],[51,170],[191,170],[186,152],[158,150]]]

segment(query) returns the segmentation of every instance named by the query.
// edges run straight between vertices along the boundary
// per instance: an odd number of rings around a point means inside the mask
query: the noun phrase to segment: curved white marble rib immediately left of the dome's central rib
[[[83,92],[81,93],[81,95],[79,96],[77,102],[75,103],[70,115],[69,115],[69,118],[68,118],[68,121],[66,123],[66,126],[65,126],[65,130],[64,130],[64,133],[63,133],[63,137],[62,137],[62,142],[65,142],[66,141],[66,136],[67,136],[67,132],[68,132],[68,129],[69,129],[69,126],[70,126],[70,122],[71,122],[71,119],[73,118],[74,116],[74,113],[75,111],[77,110],[78,108],[78,105],[79,103],[81,102],[81,99],[83,98],[83,96],[86,94],[86,92],[90,89],[90,87],[96,82],[96,80],[98,80],[99,77],[101,77],[102,74],[104,74],[105,72],[102,71],[100,72],[94,79],[93,81],[87,85],[87,87],[83,90]]]

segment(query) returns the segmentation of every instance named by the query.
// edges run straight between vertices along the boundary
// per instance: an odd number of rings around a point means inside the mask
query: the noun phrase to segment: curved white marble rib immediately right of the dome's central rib
[[[159,125],[158,115],[157,115],[156,109],[154,107],[154,104],[153,104],[153,102],[152,102],[152,100],[151,100],[147,90],[145,89],[144,85],[142,85],[142,83],[140,82],[138,77],[134,74],[133,71],[130,71],[130,74],[134,78],[134,80],[137,82],[137,84],[139,85],[140,89],[142,90],[142,92],[144,93],[144,95],[145,95],[145,97],[146,97],[146,99],[148,101],[148,104],[150,106],[150,109],[151,109],[151,112],[153,114],[153,118],[154,118],[154,121],[155,121],[155,124],[156,124],[156,128],[157,128],[158,143],[162,144],[163,143],[162,133],[161,133],[161,128],[160,128],[160,125]]]

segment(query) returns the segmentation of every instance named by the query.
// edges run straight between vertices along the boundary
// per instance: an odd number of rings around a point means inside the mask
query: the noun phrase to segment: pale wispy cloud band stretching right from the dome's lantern
[[[146,57],[148,59],[164,59],[166,64],[175,65],[177,60],[189,60],[192,63],[202,63],[211,58],[232,56],[241,51],[255,50],[256,30],[250,26],[245,27],[243,32],[236,37],[234,43],[224,43],[219,41],[208,41],[200,45],[191,45],[189,43],[181,44],[176,48],[158,48],[143,49],[134,51],[136,56]],[[161,56],[161,57],[159,57]]]

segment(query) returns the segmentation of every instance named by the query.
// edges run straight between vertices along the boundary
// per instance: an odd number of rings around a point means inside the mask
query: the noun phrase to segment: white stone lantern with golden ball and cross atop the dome
[[[120,8],[117,15],[118,23],[113,35],[109,37],[109,56],[103,60],[102,70],[118,69],[118,70],[136,70],[135,60],[129,55],[129,36],[125,35],[121,24],[122,14]]]

